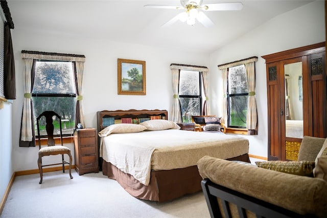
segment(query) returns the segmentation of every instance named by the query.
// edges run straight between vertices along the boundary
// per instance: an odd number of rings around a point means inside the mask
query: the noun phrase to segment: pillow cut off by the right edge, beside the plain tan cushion
[[[315,164],[316,167],[313,169],[314,176],[327,181],[327,139],[317,155]]]

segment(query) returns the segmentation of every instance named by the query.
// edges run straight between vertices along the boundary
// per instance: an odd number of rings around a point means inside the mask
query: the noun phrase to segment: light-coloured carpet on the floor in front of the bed
[[[202,192],[167,203],[139,200],[99,173],[67,171],[16,177],[5,217],[210,217]]]

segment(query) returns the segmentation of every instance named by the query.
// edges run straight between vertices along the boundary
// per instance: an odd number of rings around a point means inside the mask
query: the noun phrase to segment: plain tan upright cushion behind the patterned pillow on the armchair
[[[324,138],[304,136],[298,152],[297,161],[315,161],[324,141]]]

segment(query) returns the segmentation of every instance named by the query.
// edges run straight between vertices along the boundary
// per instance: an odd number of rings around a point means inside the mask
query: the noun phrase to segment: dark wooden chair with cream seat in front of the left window
[[[40,127],[39,127],[39,120],[41,117],[45,117],[45,129],[46,134],[48,135],[48,146],[41,148],[41,137],[40,137]],[[53,125],[53,117],[56,116],[59,119],[59,125],[60,125],[60,142],[61,145],[56,145],[54,140],[54,125]],[[53,165],[61,165],[62,164],[62,171],[65,172],[65,164],[69,164],[69,176],[71,179],[73,179],[72,176],[72,155],[71,155],[71,149],[68,147],[63,146],[62,141],[62,128],[61,128],[61,117],[53,112],[53,111],[45,111],[42,114],[40,114],[36,118],[36,125],[37,125],[37,135],[39,140],[39,158],[37,160],[37,164],[39,167],[39,173],[40,173],[40,182],[42,183],[43,178],[43,171],[42,168],[45,166],[53,166]],[[69,156],[69,162],[65,161],[63,158],[63,155],[67,154]],[[61,155],[62,162],[61,163],[55,163],[55,164],[48,164],[48,165],[42,165],[42,157],[44,156],[50,156],[50,155]]]

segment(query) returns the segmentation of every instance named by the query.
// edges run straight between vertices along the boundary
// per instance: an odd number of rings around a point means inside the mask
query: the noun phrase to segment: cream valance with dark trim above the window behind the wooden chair
[[[62,54],[62,53],[22,50],[21,57],[22,58],[30,58],[30,59],[65,60],[65,61],[85,62],[85,56],[78,55],[78,54]]]

